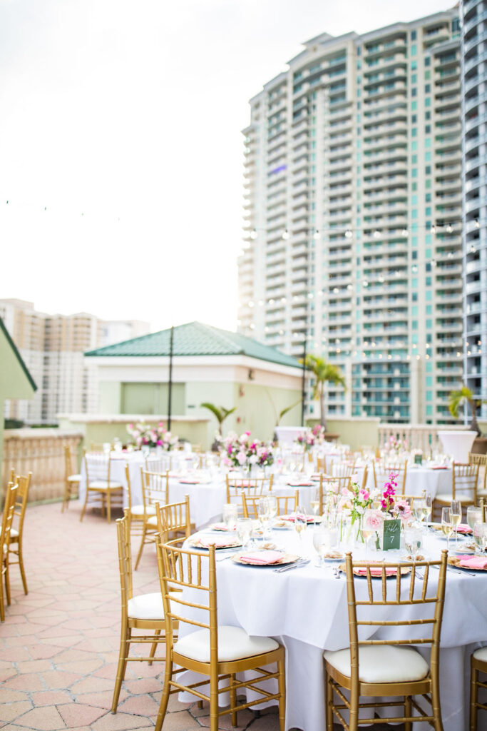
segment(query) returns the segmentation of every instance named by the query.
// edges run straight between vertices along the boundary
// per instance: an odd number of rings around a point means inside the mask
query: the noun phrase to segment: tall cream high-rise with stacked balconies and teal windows
[[[321,34],[250,100],[239,329],[340,366],[350,387],[329,387],[329,414],[450,420],[463,374],[460,53],[457,9]]]

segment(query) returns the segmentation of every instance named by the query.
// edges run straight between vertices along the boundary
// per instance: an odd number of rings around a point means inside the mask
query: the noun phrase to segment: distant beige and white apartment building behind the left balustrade
[[[4,416],[28,424],[55,423],[59,413],[96,413],[96,368],[83,353],[149,332],[147,322],[50,315],[23,300],[0,300],[0,317],[38,386],[31,401],[7,401]]]

